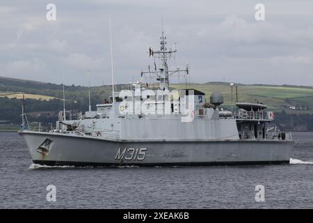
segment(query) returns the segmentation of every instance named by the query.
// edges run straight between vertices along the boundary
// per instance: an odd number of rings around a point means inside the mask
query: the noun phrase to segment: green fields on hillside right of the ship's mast
[[[235,84],[236,86],[236,84]],[[233,87],[233,100],[236,100],[236,88]],[[263,102],[268,105],[269,109],[279,112],[283,109],[288,113],[313,113],[313,88],[293,87],[293,86],[266,86],[266,85],[242,85],[238,84],[238,100],[246,102]],[[175,89],[185,89],[186,85],[176,84],[172,86]],[[191,84],[187,86],[189,89],[197,89],[203,91],[209,96],[214,91],[220,91],[224,96],[225,106],[231,105],[231,87],[227,83],[207,83],[207,84]],[[303,111],[295,111],[289,109],[289,106],[307,106],[309,109]]]

